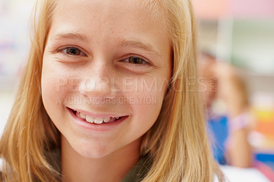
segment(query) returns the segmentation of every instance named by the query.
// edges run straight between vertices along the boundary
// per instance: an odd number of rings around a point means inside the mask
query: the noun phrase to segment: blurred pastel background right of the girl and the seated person
[[[192,3],[198,19],[199,51],[235,66],[245,82],[255,118],[248,135],[254,161],[262,161],[273,170],[274,1],[192,0]],[[269,179],[273,181],[273,175]]]

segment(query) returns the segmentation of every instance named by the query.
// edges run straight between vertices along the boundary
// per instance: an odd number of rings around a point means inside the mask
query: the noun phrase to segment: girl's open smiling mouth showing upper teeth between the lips
[[[94,118],[94,117],[88,116],[82,112],[78,112],[73,109],[71,109],[71,110],[72,110],[73,114],[75,114],[75,116],[77,116],[79,119],[89,122],[91,124],[96,124],[96,125],[102,125],[102,124],[107,124],[107,123],[111,123],[111,122],[116,122],[118,120],[121,120],[122,118],[127,117],[127,116],[120,116],[120,117]]]

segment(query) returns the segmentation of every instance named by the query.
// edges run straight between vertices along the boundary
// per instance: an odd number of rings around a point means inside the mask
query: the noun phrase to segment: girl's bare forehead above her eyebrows
[[[82,29],[86,25],[103,27],[105,31],[107,28],[127,31],[155,27],[155,33],[164,33],[164,22],[155,16],[156,6],[153,5],[152,10],[148,4],[140,0],[60,0],[53,12],[53,23],[62,18],[63,22],[74,23],[73,26],[79,25]]]

